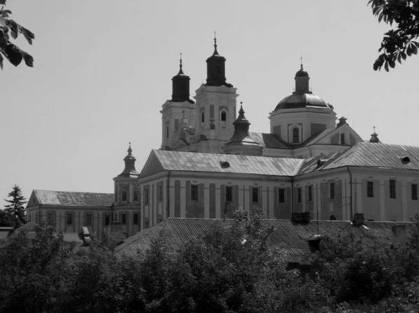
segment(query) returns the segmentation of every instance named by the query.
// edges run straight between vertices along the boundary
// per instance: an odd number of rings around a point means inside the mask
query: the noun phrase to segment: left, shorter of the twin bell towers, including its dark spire
[[[173,135],[179,129],[181,119],[188,119],[191,125],[195,123],[196,105],[189,95],[191,78],[182,70],[182,53],[180,54],[179,72],[172,77],[172,98],[167,100],[160,113],[161,116],[161,148],[171,150],[175,143]]]

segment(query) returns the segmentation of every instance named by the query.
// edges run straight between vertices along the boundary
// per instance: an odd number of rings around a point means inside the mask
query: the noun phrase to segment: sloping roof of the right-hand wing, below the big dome
[[[404,157],[408,157],[410,162],[404,164],[402,162]],[[319,159],[327,161],[320,167],[317,167]],[[305,160],[298,174],[346,166],[419,170],[419,147],[360,142],[345,151]]]

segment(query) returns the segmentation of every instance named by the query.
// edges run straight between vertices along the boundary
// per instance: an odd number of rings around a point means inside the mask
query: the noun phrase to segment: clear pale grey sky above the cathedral
[[[161,105],[172,76],[205,82],[207,57],[225,56],[251,131],[290,95],[303,56],[310,86],[363,139],[419,146],[419,58],[390,72],[372,68],[383,33],[367,0],[8,0],[35,33],[34,68],[0,72],[0,208],[13,185],[32,190],[113,192],[131,142],[140,171],[161,146]]]

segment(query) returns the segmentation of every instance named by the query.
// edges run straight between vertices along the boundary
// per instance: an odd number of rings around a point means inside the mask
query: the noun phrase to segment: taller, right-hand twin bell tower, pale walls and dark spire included
[[[196,152],[223,153],[222,146],[233,136],[237,89],[226,79],[226,58],[217,50],[207,59],[207,82],[196,90]]]

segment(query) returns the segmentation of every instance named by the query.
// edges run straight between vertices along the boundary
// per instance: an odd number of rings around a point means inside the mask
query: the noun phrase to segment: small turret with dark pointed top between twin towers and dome
[[[223,146],[223,151],[230,154],[262,155],[262,146],[251,139],[249,135],[250,122],[244,117],[243,106],[240,102],[239,116],[233,122],[233,137]]]

